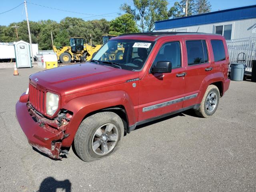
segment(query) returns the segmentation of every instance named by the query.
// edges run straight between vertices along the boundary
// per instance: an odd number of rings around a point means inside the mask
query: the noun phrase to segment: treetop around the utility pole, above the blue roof
[[[175,2],[168,12],[170,18],[185,17],[183,8],[186,8],[186,0]],[[195,0],[188,0],[188,16],[194,15],[195,11]]]

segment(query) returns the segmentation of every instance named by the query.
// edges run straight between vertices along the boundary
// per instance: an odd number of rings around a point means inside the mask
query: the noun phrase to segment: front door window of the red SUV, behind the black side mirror
[[[170,61],[172,62],[172,68],[181,67],[180,42],[169,42],[162,45],[156,55],[153,66],[158,61]]]

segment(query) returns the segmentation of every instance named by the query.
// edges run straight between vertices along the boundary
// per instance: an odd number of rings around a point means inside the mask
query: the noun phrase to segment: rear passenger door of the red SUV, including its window
[[[200,87],[212,74],[209,42],[205,38],[184,39],[186,48],[186,85],[183,108],[197,104]]]

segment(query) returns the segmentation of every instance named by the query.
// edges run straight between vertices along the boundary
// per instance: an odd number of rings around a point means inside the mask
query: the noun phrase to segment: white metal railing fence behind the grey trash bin
[[[256,38],[242,38],[227,40],[230,63],[238,63],[244,60],[247,72],[252,72],[252,60],[256,60]],[[240,54],[238,58],[239,53]],[[245,56],[243,58],[243,56]]]

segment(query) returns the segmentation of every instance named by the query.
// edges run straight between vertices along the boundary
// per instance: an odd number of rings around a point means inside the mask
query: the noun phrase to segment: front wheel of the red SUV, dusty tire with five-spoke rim
[[[111,132],[106,129],[111,129]],[[82,121],[74,138],[74,146],[83,161],[91,162],[114,153],[121,144],[123,136],[122,119],[114,112],[99,112]]]

